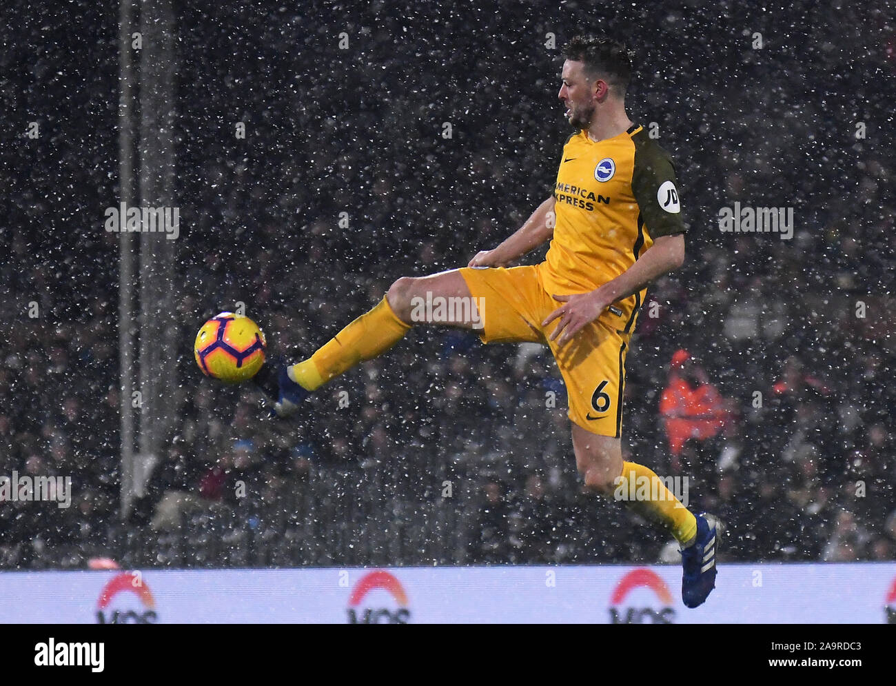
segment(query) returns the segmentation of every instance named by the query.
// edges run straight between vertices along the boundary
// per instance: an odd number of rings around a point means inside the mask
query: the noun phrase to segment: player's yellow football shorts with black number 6
[[[623,333],[625,321],[620,319],[618,327],[613,326],[616,315],[605,312],[561,350],[556,341],[547,340],[559,319],[547,326],[541,323],[563,303],[545,291],[538,265],[463,267],[459,271],[470,295],[482,305],[482,342],[546,344],[566,384],[570,420],[592,433],[618,438],[622,430],[625,353],[632,337]]]

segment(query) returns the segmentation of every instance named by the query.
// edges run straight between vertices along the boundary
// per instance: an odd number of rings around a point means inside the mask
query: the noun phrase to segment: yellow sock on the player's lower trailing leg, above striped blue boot
[[[644,465],[624,462],[614,498],[666,526],[676,541],[687,543],[697,534],[697,518],[682,505],[659,476]]]

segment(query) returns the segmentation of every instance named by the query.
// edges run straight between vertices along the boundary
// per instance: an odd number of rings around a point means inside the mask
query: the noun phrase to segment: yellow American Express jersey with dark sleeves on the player
[[[554,196],[554,237],[539,265],[552,295],[593,291],[623,274],[657,237],[685,231],[672,161],[642,126],[599,142],[585,131],[571,135]],[[600,318],[631,332],[646,291]]]

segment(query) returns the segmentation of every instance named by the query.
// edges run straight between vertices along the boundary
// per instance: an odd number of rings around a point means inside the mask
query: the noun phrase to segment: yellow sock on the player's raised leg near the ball
[[[383,354],[401,341],[409,328],[383,298],[375,308],[324,343],[310,358],[287,369],[287,373],[299,386],[313,391],[358,362],[373,360]]]

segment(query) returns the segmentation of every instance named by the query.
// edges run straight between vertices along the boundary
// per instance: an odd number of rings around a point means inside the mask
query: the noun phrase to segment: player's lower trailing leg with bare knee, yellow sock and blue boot
[[[696,607],[715,588],[716,550],[721,525],[711,515],[694,515],[650,468],[625,462],[619,439],[599,436],[573,424],[575,462],[585,485],[608,498],[624,500],[640,514],[664,525],[681,546],[681,597]]]

